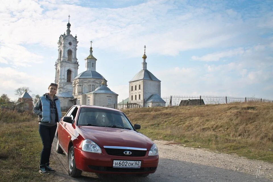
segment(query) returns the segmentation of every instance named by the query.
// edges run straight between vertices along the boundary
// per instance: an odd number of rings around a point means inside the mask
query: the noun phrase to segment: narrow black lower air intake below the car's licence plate
[[[151,172],[156,170],[156,167],[140,167],[140,168],[115,168],[115,167],[103,167],[103,166],[88,166],[95,171],[106,172]]]

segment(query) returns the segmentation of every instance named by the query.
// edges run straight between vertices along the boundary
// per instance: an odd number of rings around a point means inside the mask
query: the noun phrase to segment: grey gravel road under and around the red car
[[[159,165],[155,173],[148,177],[135,175],[96,175],[83,172],[82,177],[72,178],[67,173],[67,156],[55,152],[54,139],[51,164],[56,172],[54,182],[65,181],[113,181],[113,182],[270,182],[273,181],[273,165],[249,160],[230,154],[211,152],[204,149],[188,148],[171,142],[154,141],[159,150]],[[256,178],[258,166],[260,177]]]

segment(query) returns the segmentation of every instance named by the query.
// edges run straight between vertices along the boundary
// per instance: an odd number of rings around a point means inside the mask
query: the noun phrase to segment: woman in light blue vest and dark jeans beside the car
[[[57,129],[57,122],[60,121],[62,116],[60,100],[55,95],[57,88],[57,84],[51,83],[48,87],[48,93],[38,99],[32,110],[34,114],[38,115],[39,133],[43,143],[39,167],[41,174],[55,171],[49,167],[49,157]]]

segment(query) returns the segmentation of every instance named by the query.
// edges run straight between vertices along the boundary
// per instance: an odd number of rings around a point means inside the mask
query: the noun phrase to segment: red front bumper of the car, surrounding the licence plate
[[[148,151],[143,157],[127,157],[108,155],[104,148],[102,154],[85,152],[74,148],[74,159],[77,169],[93,173],[154,173],[158,166],[158,156],[148,156]],[[113,168],[113,160],[139,160],[140,168]]]

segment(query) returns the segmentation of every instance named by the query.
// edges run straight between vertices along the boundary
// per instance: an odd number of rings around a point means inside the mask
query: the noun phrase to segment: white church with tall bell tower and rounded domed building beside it
[[[58,59],[55,63],[57,96],[63,110],[73,105],[95,105],[115,108],[118,94],[107,87],[107,80],[96,71],[97,59],[93,56],[92,41],[90,54],[84,59],[86,71],[78,74],[77,35],[70,34],[68,22],[66,34],[59,37]]]

